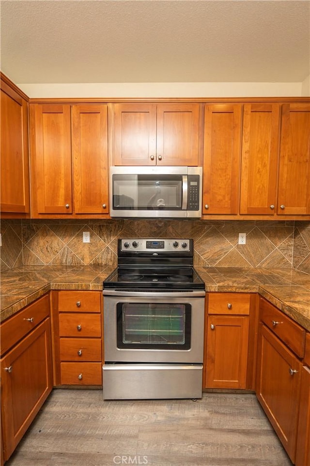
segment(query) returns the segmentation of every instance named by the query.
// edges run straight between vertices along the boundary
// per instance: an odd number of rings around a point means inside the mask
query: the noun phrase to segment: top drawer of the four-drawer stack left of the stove
[[[59,312],[100,312],[101,293],[96,291],[60,291]]]

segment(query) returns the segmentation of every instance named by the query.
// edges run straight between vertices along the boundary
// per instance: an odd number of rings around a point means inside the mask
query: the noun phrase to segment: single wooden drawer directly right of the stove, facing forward
[[[248,293],[209,293],[209,314],[248,315],[250,295]]]

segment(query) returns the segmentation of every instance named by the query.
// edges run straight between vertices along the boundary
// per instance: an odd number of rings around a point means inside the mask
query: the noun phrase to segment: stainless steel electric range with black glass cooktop
[[[201,398],[205,287],[193,240],[119,239],[103,295],[104,398]]]

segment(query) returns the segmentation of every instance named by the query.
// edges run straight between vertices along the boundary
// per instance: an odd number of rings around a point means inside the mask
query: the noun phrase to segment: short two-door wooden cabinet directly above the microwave
[[[112,165],[199,165],[200,104],[120,103],[112,108]]]

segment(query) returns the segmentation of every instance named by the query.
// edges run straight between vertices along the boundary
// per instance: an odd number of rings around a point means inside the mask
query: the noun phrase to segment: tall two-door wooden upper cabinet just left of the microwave
[[[108,214],[106,104],[30,104],[32,216]]]

